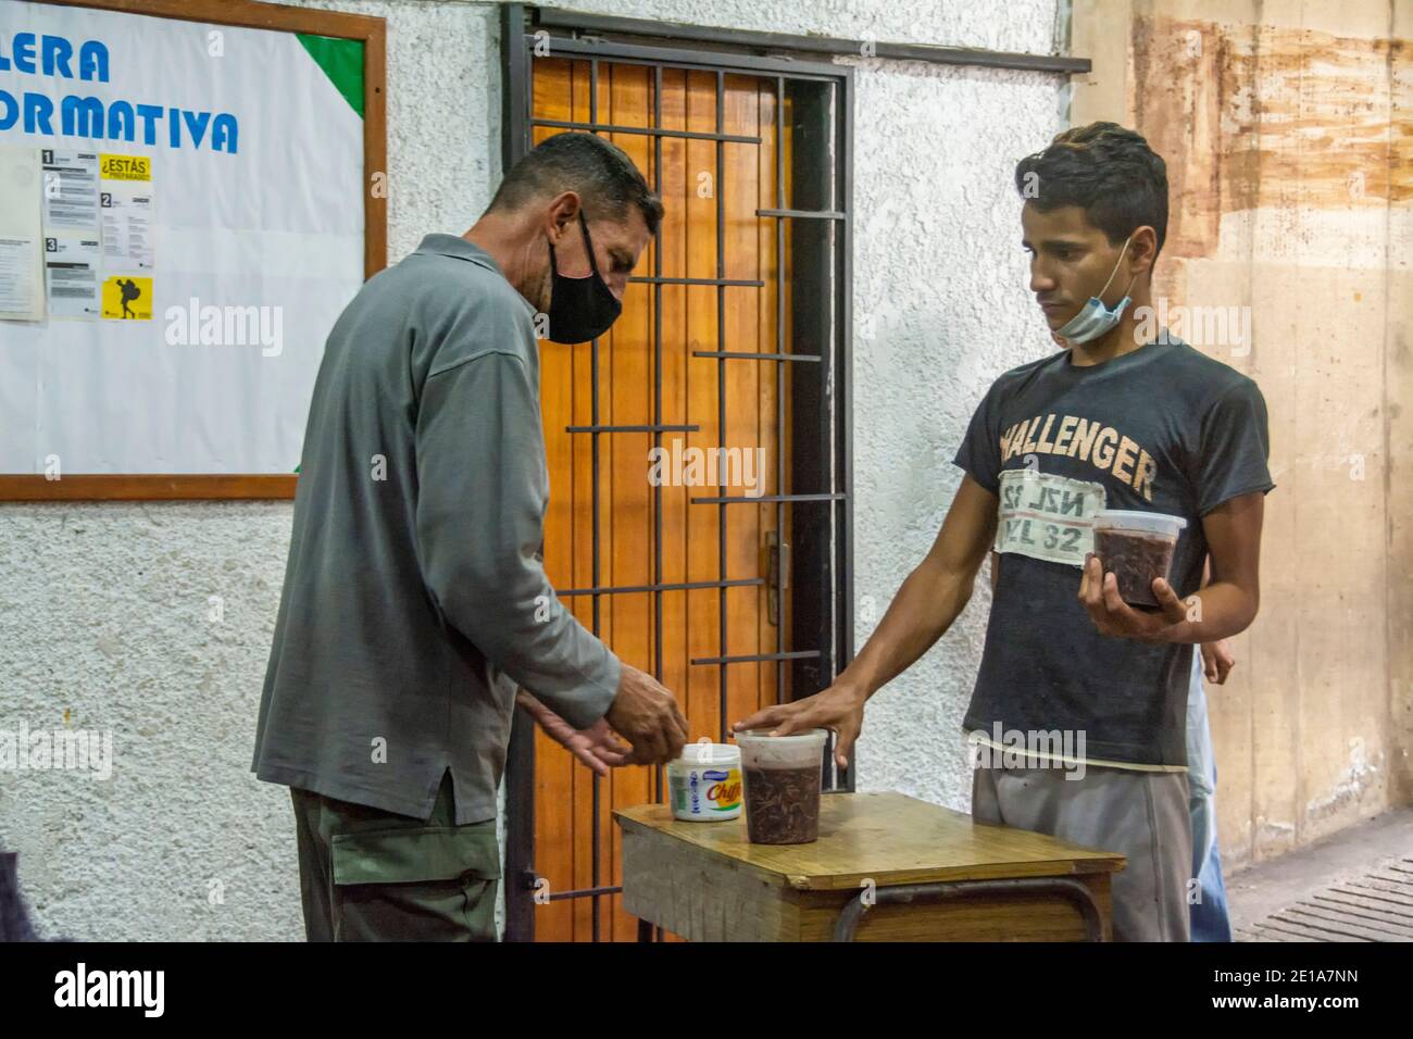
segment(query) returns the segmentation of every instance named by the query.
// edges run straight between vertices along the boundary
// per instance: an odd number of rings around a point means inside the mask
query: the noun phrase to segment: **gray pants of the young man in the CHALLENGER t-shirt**
[[[1126,855],[1128,867],[1112,879],[1113,940],[1187,941],[1187,776],[1095,765],[1085,766],[1082,779],[1070,775],[1060,768],[976,768],[972,817]]]

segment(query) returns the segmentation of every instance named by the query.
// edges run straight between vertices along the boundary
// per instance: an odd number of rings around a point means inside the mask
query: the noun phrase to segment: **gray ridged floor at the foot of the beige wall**
[[[1413,941],[1413,809],[1226,876],[1236,941]]]

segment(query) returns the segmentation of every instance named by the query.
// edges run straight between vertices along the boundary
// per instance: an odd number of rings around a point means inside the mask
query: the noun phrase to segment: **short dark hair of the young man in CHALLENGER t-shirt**
[[[1016,163],[1016,191],[1040,212],[1080,206],[1111,245],[1149,225],[1157,232],[1157,252],[1163,250],[1167,163],[1142,134],[1118,123],[1057,134],[1043,151]]]

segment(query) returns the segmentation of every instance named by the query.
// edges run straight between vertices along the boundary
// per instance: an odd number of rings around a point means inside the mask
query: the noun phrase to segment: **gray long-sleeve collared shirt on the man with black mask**
[[[256,752],[260,779],[493,818],[516,686],[578,728],[619,660],[545,578],[534,310],[428,235],[329,334],[309,404]]]

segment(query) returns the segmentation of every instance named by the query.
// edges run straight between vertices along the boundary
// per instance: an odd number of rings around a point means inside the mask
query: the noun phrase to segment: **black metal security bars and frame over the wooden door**
[[[661,229],[653,250],[653,274],[634,276],[632,283],[644,284],[653,297],[653,403],[650,423],[603,423],[599,401],[599,342],[591,344],[591,416],[588,424],[565,425],[571,435],[591,438],[592,472],[592,582],[581,588],[557,589],[561,598],[591,597],[592,630],[601,625],[601,601],[605,595],[650,594],[653,601],[653,673],[663,679],[663,597],[670,592],[716,589],[718,646],[712,656],[690,657],[690,664],[716,666],[719,673],[719,739],[728,738],[728,667],[742,663],[773,663],[776,695],[786,688],[805,695],[827,687],[848,663],[852,650],[852,499],[851,431],[848,407],[849,372],[849,212],[851,189],[848,171],[852,148],[852,79],[845,66],[800,62],[755,55],[682,51],[671,47],[615,42],[601,37],[581,38],[572,30],[557,27],[547,37],[544,28],[527,21],[526,8],[507,4],[503,8],[503,74],[504,74],[504,167],[528,150],[536,127],[581,130],[603,134],[639,134],[651,139],[654,188],[661,194],[663,140],[685,139],[715,144],[715,277],[664,277]],[[536,45],[548,38],[557,58],[582,61],[589,69],[588,120],[536,117],[534,112],[534,52]],[[723,34],[729,41],[729,34]],[[651,76],[651,126],[616,124],[602,122],[599,113],[601,66],[634,65],[647,68]],[[690,69],[715,75],[715,129],[681,130],[663,126],[663,72]],[[728,278],[725,243],[725,150],[728,143],[760,144],[749,134],[726,133],[723,95],[726,75],[749,75],[774,88],[774,189],[780,208],[757,208],[756,218],[774,222],[776,286],[774,335],[776,351],[732,351],[726,342],[726,290],[764,288],[764,280]],[[787,99],[791,110],[786,122]],[[612,117],[612,116],[610,116]],[[786,143],[791,164],[787,170]],[[786,208],[791,204],[791,208]],[[791,256],[791,277],[786,283],[787,243]],[[779,486],[770,495],[701,495],[688,500],[692,509],[715,506],[716,512],[716,580],[663,580],[663,509],[661,486],[653,486],[653,580],[647,584],[606,585],[601,560],[601,440],[615,434],[651,434],[654,448],[663,447],[664,433],[695,433],[699,424],[681,421],[680,416],[663,414],[663,287],[697,286],[715,290],[718,349],[691,351],[694,358],[716,362],[716,428],[726,440],[726,366],[742,360],[770,363],[774,369],[776,403],[776,472]],[[790,314],[787,322],[787,293]],[[787,349],[788,345],[788,349]],[[794,366],[793,377],[786,368]],[[790,407],[787,409],[787,394]],[[787,437],[788,431],[788,437]],[[788,440],[788,450],[787,450]],[[722,444],[725,447],[725,442]],[[718,464],[725,469],[723,455]],[[786,475],[794,486],[811,488],[790,493]],[[722,472],[718,486],[723,485]],[[759,577],[728,575],[728,533],[732,506],[771,505],[774,532],[770,546],[769,574]],[[790,513],[790,541],[784,541],[786,510]],[[770,616],[777,646],[769,653],[731,653],[728,647],[728,589],[766,587]],[[791,623],[787,623],[791,622]],[[803,647],[786,645],[786,632]],[[788,676],[788,681],[787,681]],[[507,762],[507,862],[506,862],[506,937],[531,940],[534,937],[533,892],[540,885],[534,868],[534,734],[533,724],[517,715]],[[825,789],[852,789],[852,776],[835,777],[832,746],[825,748]],[[656,769],[653,792],[663,799],[663,769]],[[592,779],[592,879],[588,886],[548,893],[548,900],[591,899],[592,939],[599,940],[602,919],[601,900],[617,893],[619,886],[606,884],[602,874],[602,804],[601,782]]]

